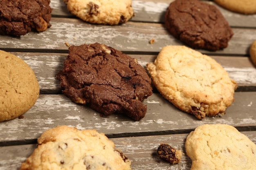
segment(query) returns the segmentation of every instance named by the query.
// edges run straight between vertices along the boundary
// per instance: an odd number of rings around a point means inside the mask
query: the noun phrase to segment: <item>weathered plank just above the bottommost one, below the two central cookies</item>
[[[235,101],[227,108],[226,115],[203,120],[175,108],[159,93],[154,93],[143,103],[148,108],[146,116],[141,121],[133,121],[125,115],[102,117],[97,111],[71,102],[64,95],[40,95],[36,104],[23,114],[23,119],[0,123],[0,145],[8,141],[36,139],[44,130],[57,125],[97,129],[110,137],[184,133],[201,124],[216,123],[256,130],[256,92],[235,93]]]

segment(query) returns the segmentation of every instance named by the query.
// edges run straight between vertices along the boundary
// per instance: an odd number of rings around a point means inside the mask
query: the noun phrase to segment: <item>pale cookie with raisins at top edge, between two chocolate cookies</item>
[[[134,15],[132,0],[63,0],[68,11],[95,24],[122,24]]]

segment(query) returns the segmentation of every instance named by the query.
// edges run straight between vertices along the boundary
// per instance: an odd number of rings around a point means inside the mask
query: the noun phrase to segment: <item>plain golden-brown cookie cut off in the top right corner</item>
[[[256,0],[214,0],[220,6],[237,13],[256,13]]]

